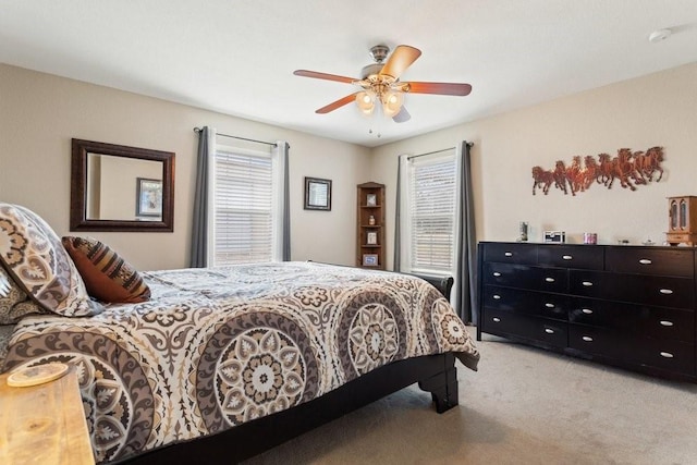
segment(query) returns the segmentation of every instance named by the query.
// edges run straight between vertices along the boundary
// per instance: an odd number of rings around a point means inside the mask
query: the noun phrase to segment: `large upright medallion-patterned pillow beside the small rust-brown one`
[[[61,240],[38,215],[0,203],[0,261],[36,303],[66,317],[99,314]]]

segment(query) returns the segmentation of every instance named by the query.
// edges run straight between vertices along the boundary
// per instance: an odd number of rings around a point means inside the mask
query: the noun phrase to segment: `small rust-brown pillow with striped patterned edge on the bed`
[[[63,246],[93,297],[110,303],[137,303],[150,298],[150,287],[138,271],[106,244],[91,237],[63,237]]]

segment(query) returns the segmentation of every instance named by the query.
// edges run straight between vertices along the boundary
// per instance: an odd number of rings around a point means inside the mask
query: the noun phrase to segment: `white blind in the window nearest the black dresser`
[[[455,156],[414,158],[409,164],[409,268],[413,271],[452,273]]]

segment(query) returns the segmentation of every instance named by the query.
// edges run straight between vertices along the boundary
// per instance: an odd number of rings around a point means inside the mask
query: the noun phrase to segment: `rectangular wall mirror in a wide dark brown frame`
[[[72,139],[71,231],[174,230],[174,152]]]

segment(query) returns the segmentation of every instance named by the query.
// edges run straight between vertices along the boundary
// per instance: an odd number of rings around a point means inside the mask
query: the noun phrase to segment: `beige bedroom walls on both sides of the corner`
[[[476,91],[476,88],[475,88]],[[669,196],[697,195],[697,63],[463,123],[369,150],[239,118],[0,64],[0,200],[26,205],[58,234],[69,233],[72,137],[176,152],[174,233],[91,233],[140,269],[187,265],[196,136],[192,129],[291,145],[293,259],[353,264],[355,186],[387,184],[388,266],[392,262],[399,154],[473,148],[478,240],[530,238],[564,230],[568,242],[592,231],[601,243],[661,243]],[[576,197],[533,196],[530,169],[617,148],[664,147],[660,183],[629,192],[594,185]],[[303,209],[303,178],[333,181],[330,212]]]

